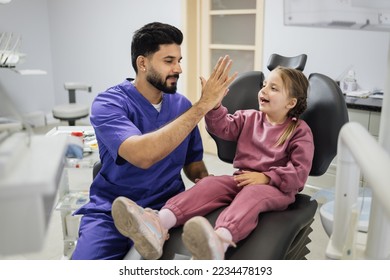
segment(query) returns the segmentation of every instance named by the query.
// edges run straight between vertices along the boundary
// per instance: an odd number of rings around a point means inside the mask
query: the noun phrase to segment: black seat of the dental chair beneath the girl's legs
[[[206,218],[212,225],[223,207],[210,213]],[[307,195],[298,195],[295,203],[285,211],[267,212],[259,216],[256,229],[237,248],[229,248],[225,258],[228,260],[283,260],[305,259],[310,252],[306,247],[310,243],[308,235],[317,203]],[[169,231],[170,238],[164,245],[161,259],[189,259],[190,252],[181,239],[182,227]],[[137,256],[132,249],[125,259]],[[131,257],[130,257],[131,256]],[[139,255],[138,255],[139,257]],[[139,257],[140,258],[140,257]]]

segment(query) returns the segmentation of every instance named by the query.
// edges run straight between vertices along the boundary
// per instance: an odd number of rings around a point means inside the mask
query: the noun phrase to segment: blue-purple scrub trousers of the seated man
[[[122,260],[133,242],[115,227],[109,214],[86,214],[72,260]]]

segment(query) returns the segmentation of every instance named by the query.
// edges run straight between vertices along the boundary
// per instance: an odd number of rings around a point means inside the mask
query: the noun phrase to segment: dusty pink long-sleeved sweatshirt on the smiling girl
[[[298,120],[299,126],[290,138],[275,147],[291,119],[272,125],[261,111],[241,110],[232,115],[220,106],[210,111],[205,120],[210,133],[237,141],[235,168],[263,172],[270,178],[270,185],[285,193],[303,189],[314,155],[313,135],[305,121]]]

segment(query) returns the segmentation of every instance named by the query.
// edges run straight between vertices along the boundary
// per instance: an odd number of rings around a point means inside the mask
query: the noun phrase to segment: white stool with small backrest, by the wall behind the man
[[[88,117],[89,106],[76,103],[76,90],[92,91],[92,87],[86,84],[65,83],[68,90],[69,104],[55,106],[52,110],[53,117],[61,121],[67,121],[70,126],[76,124],[76,120]]]

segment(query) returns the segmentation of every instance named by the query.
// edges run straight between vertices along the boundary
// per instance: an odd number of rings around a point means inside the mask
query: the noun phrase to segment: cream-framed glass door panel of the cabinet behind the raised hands
[[[204,5],[208,70],[226,54],[233,60],[232,71],[260,69],[263,0],[205,0]]]

